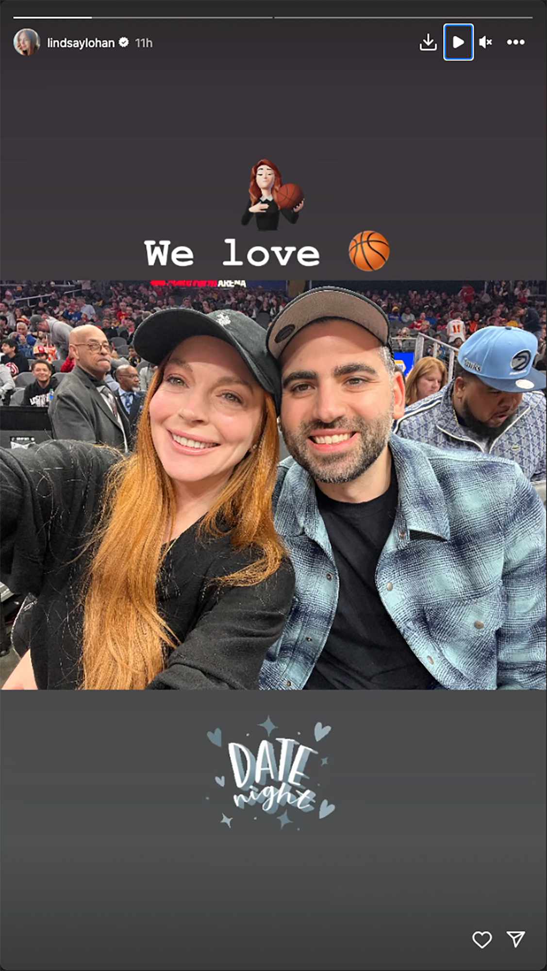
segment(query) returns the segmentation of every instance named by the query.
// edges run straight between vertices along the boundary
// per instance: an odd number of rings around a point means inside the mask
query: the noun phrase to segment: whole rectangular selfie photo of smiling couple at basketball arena
[[[545,292],[2,284],[3,687],[544,689]]]

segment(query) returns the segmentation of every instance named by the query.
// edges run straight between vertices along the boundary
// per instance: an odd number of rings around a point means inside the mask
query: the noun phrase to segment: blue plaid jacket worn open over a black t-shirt
[[[514,461],[390,439],[399,504],[375,582],[409,648],[439,686],[545,688],[545,510]],[[286,458],[275,528],[295,596],[266,655],[262,689],[300,689],[323,650],[338,571],[308,473]]]

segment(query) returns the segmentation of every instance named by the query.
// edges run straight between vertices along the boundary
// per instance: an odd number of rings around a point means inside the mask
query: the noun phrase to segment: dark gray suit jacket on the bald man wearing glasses
[[[109,405],[80,367],[75,367],[60,383],[49,403],[48,412],[54,438],[112,445],[124,451],[123,434]],[[129,445],[129,421],[123,408],[118,407],[118,413]]]

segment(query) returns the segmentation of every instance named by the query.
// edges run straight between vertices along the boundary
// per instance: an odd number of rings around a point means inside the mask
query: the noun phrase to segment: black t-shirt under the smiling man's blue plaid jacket
[[[338,607],[306,688],[427,688],[434,681],[410,650],[376,589],[376,564],[399,497],[395,469],[370,502],[336,502],[316,487],[339,575]]]

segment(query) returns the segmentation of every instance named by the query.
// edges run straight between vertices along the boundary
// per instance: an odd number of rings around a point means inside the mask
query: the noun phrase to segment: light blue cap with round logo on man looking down
[[[499,391],[536,391],[545,387],[545,372],[531,365],[537,338],[519,327],[483,327],[464,342],[458,363],[485,385]]]

